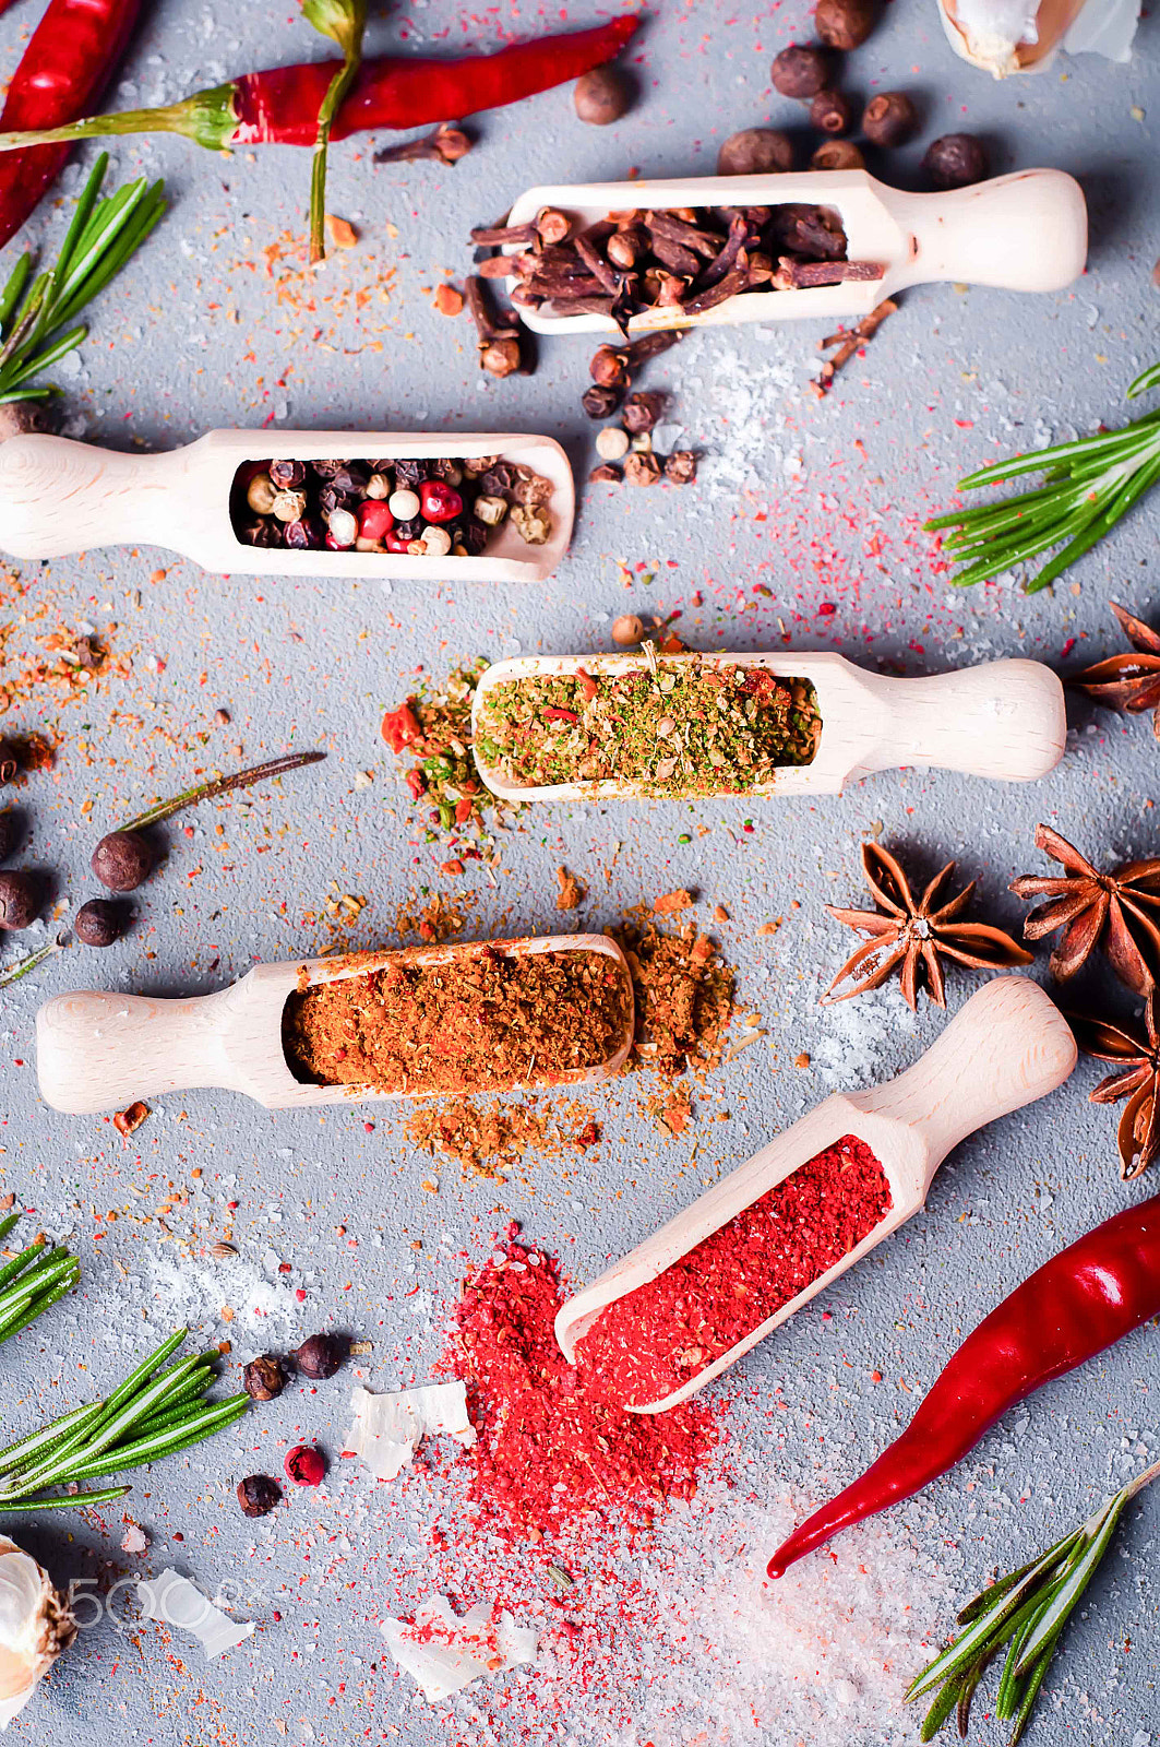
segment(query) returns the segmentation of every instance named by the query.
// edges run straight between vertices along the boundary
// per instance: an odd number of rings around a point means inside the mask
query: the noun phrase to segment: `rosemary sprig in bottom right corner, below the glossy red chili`
[[[1031,1721],[1067,1619],[1111,1546],[1123,1511],[1157,1478],[1160,1462],[1153,1462],[1106,1499],[1094,1516],[1031,1565],[999,1578],[968,1602],[959,1614],[959,1625],[966,1630],[907,1689],[910,1700],[938,1688],[922,1723],[924,1742],[935,1740],[952,1712],[957,1714],[959,1735],[966,1737],[975,1688],[987,1665],[1006,1646],[996,1717],[1013,1723],[1010,1747],[1015,1747]]]

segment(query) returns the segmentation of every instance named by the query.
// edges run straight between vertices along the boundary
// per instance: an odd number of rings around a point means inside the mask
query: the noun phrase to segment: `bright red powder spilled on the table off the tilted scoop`
[[[456,1307],[452,1366],[479,1434],[461,1457],[472,1499],[493,1527],[531,1539],[592,1511],[646,1525],[657,1504],[697,1490],[715,1417],[694,1403],[659,1419],[627,1413],[604,1378],[573,1370],[554,1333],[559,1263],[517,1232],[512,1223]]]

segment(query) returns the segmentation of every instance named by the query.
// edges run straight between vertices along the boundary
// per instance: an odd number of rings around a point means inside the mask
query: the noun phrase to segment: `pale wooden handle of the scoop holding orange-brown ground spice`
[[[37,1013],[37,1074],[52,1109],[89,1115],[192,1087],[232,1087],[224,1005],[232,989],[183,1001],[79,989]]]

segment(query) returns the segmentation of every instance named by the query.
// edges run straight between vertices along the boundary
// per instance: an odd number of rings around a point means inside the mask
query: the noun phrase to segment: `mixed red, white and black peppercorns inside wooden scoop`
[[[503,521],[528,545],[543,545],[550,496],[550,480],[498,454],[246,461],[234,475],[231,519],[253,547],[479,557]]]

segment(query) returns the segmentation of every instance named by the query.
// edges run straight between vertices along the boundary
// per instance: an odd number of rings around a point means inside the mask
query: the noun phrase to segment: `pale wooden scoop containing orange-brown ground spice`
[[[121,1109],[133,1099],[194,1087],[245,1092],[267,1109],[304,1109],[351,1099],[400,1099],[437,1094],[379,1092],[362,1085],[309,1085],[295,1080],[285,1057],[281,1019],[288,996],[304,987],[365,977],[386,964],[454,964],[482,952],[521,957],[533,952],[603,952],[624,966],[629,1012],[620,1046],[590,1069],[550,1081],[498,1083],[486,1090],[522,1092],[536,1085],[585,1085],[618,1073],[632,1045],[632,984],[620,947],[604,935],[549,935],[535,940],[484,940],[470,945],[407,947],[402,952],[351,952],[342,959],[295,959],[255,964],[241,982],[185,1001],[77,989],[45,1001],[37,1013],[37,1073],[52,1109],[87,1115]]]

